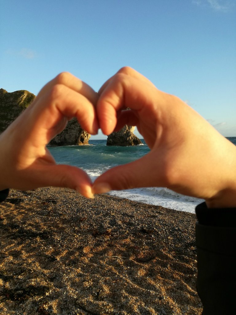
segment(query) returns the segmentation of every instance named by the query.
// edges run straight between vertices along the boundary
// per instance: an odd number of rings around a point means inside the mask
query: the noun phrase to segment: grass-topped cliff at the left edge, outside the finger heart
[[[8,93],[0,89],[0,133],[2,133],[34,100],[26,90]]]

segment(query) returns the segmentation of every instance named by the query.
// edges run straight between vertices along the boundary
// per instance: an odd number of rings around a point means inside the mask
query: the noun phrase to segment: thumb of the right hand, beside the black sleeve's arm
[[[92,192],[100,194],[110,190],[161,186],[162,179],[158,174],[159,162],[156,161],[155,167],[151,162],[152,154],[148,153],[134,162],[109,169],[94,181]]]

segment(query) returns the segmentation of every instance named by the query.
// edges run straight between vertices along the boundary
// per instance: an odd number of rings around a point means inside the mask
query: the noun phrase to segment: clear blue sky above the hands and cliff
[[[62,71],[98,90],[131,66],[236,136],[235,0],[2,0],[0,42],[8,92]]]

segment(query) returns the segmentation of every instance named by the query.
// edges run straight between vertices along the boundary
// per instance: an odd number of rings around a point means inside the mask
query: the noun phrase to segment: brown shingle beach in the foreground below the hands
[[[0,204],[2,315],[200,315],[196,216],[66,188]]]

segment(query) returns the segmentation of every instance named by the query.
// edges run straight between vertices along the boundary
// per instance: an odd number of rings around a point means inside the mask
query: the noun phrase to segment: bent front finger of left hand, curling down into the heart
[[[81,127],[90,134],[98,132],[98,120],[93,104],[85,96],[61,84],[55,85],[47,95],[38,98],[35,106],[31,108],[30,117],[29,113],[27,115],[27,127],[31,129],[30,133],[27,131],[28,135],[41,138],[40,143],[48,143],[56,135],[58,125],[65,125],[65,117],[77,117]]]

